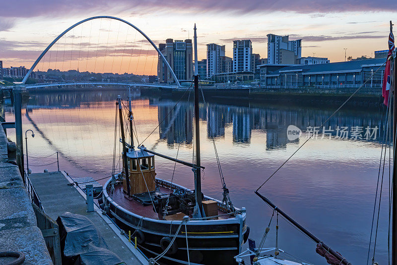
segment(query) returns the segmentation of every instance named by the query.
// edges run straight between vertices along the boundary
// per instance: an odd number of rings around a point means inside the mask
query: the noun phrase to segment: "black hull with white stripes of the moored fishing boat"
[[[167,184],[163,180],[157,181]],[[110,181],[105,184],[102,197],[107,214],[114,217],[114,221],[126,233],[131,231],[132,240],[137,237],[137,247],[148,257],[156,257],[162,253],[162,241],[171,240],[182,221],[152,219],[126,210],[109,196],[109,184]],[[245,219],[245,211],[239,210],[239,214],[228,219],[189,220],[186,227],[185,224],[181,226],[173,246],[160,261],[166,264],[188,264],[189,248],[189,260],[192,265],[235,264],[233,257],[240,253],[244,239],[248,237],[244,237],[249,231]]]

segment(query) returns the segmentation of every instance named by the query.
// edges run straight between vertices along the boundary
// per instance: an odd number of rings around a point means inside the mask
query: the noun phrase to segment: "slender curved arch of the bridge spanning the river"
[[[69,28],[67,28],[64,32],[62,32],[57,38],[55,38],[53,40],[52,43],[50,43],[50,45],[47,46],[47,48],[41,53],[41,55],[39,56],[39,58],[37,58],[37,60],[34,62],[34,64],[32,65],[32,67],[30,67],[29,71],[26,73],[25,77],[22,80],[22,83],[24,84],[26,82],[26,80],[28,79],[29,75],[32,73],[32,71],[34,70],[34,68],[37,66],[37,64],[40,62],[40,60],[43,58],[43,56],[51,49],[51,47],[59,40],[62,38],[62,36],[64,36],[69,30],[73,29],[74,27],[89,21],[89,20],[93,20],[93,19],[98,19],[98,18],[110,18],[110,19],[115,19],[115,20],[119,20],[121,22],[126,23],[127,25],[133,27],[136,31],[138,31],[143,37],[146,38],[146,40],[153,46],[154,49],[156,49],[157,53],[161,56],[161,58],[163,59],[164,63],[167,65],[167,68],[170,70],[172,77],[174,77],[175,82],[177,83],[178,86],[181,86],[181,84],[179,83],[178,78],[176,77],[174,71],[172,70],[171,66],[168,64],[167,60],[165,59],[164,55],[160,52],[160,50],[157,48],[157,46],[152,42],[152,40],[145,34],[143,33],[140,29],[138,29],[136,26],[132,25],[130,22],[115,17],[115,16],[93,16],[93,17],[89,17],[86,19],[83,19],[77,23],[75,23],[74,25],[70,26]],[[60,83],[60,85],[62,85],[62,83]]]

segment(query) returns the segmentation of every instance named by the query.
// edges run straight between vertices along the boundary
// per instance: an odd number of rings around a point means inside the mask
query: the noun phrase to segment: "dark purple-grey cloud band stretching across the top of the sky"
[[[23,6],[23,8],[21,8]],[[206,12],[233,12],[236,14],[264,13],[273,11],[287,11],[296,13],[314,13],[314,16],[331,12],[346,11],[396,11],[397,5],[393,0],[169,0],[164,5],[162,0],[95,0],[95,1],[54,1],[54,0],[20,0],[18,4],[2,4],[2,16],[9,17],[65,17],[73,14],[88,14],[100,12],[117,12],[139,14],[153,12],[162,8],[162,11],[175,10],[184,13]],[[351,22],[359,23],[359,22]]]

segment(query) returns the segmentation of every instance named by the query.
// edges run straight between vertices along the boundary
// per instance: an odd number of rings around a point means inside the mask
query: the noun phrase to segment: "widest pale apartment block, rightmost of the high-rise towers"
[[[302,40],[290,41],[288,36],[267,34],[267,63],[295,65],[302,58]]]

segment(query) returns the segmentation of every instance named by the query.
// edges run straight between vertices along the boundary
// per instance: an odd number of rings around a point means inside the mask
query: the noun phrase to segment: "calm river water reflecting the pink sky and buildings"
[[[76,177],[100,179],[112,171],[114,125],[117,95],[125,91],[31,93],[23,111],[23,129],[35,131],[28,138],[29,155],[34,157],[60,152],[60,167]],[[289,141],[287,127],[306,129],[320,126],[334,107],[312,108],[308,104],[232,103],[200,104],[202,190],[222,199],[219,173],[210,136],[215,138],[222,171],[230,197],[237,207],[247,208],[250,237],[261,240],[271,209],[254,191],[305,140]],[[135,92],[133,113],[141,142],[174,107],[176,100],[146,97]],[[12,109],[6,120],[12,121]],[[383,131],[376,139],[341,139],[336,128],[359,126],[382,128],[383,108],[342,109],[327,128],[333,136],[310,140],[260,192],[290,214],[309,231],[328,243],[355,265],[366,263],[375,198]],[[179,159],[192,160],[193,103],[182,101],[145,141],[150,149]],[[38,131],[39,130],[39,131]],[[365,131],[365,130],[364,130]],[[364,135],[364,133],[363,133]],[[9,137],[14,139],[13,132]],[[119,147],[117,147],[119,149]],[[117,150],[119,152],[119,150]],[[387,158],[388,160],[388,158]],[[56,156],[30,158],[33,172],[56,170]],[[388,168],[388,165],[386,166]],[[171,180],[174,163],[157,158],[157,177]],[[378,231],[376,261],[387,262],[388,187],[385,176]],[[104,181],[100,181],[104,183]],[[193,188],[190,168],[177,165],[174,182]],[[313,264],[326,264],[315,253],[315,244],[280,218],[278,246]],[[275,223],[270,227],[266,247],[275,245]],[[245,246],[244,248],[246,248]],[[372,255],[371,255],[372,257]]]

